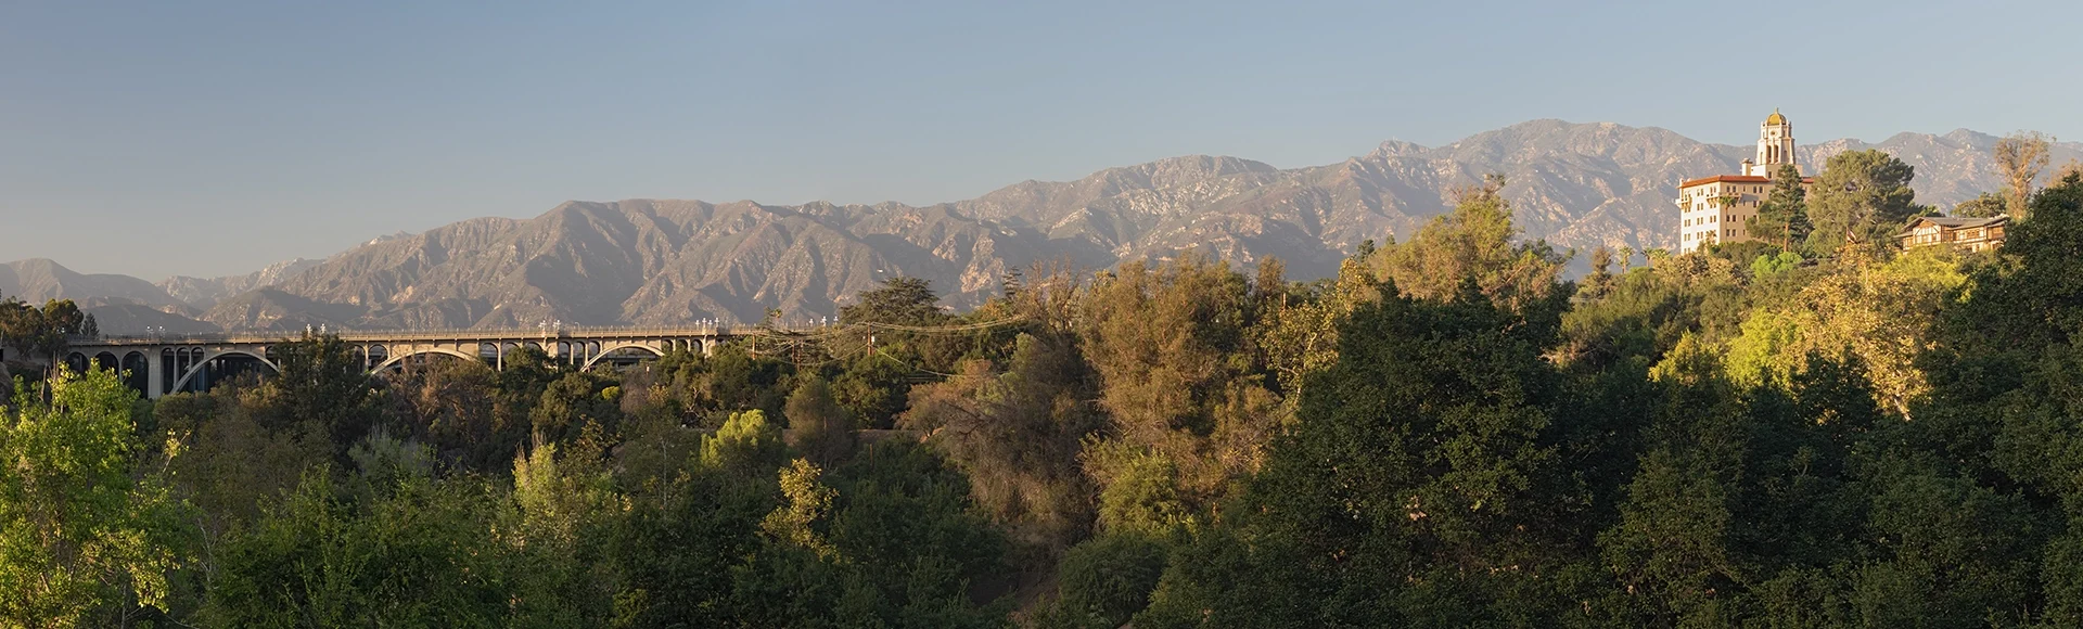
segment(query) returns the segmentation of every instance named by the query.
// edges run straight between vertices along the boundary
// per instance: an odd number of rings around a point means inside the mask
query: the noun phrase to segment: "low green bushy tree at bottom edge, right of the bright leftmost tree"
[[[402,477],[373,496],[325,467],[223,542],[202,612],[221,627],[510,627],[529,567],[471,481]],[[525,604],[517,604],[525,602]]]

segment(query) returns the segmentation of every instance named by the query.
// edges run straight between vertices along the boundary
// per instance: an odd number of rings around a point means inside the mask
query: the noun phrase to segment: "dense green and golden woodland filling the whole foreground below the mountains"
[[[1764,242],[1581,281],[1489,181],[1314,283],[896,279],[619,371],[306,337],[150,404],[60,371],[0,414],[0,627],[2083,625],[2083,175],[1981,254],[1883,246],[1910,175],[1783,173]]]

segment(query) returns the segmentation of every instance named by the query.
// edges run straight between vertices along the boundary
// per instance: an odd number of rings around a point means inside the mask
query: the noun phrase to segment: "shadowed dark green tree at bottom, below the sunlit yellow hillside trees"
[[[1691,339],[1652,371],[1660,400],[1641,433],[1646,452],[1618,523],[1598,535],[1627,592],[1616,610],[1635,614],[1627,625],[1818,617],[1821,604],[1783,589],[1816,587],[1814,573],[1854,552],[1862,496],[1848,492],[1858,485],[1846,479],[1846,452],[1881,417],[1858,369],[1810,356],[1789,387],[1750,392],[1723,371],[1716,352]]]

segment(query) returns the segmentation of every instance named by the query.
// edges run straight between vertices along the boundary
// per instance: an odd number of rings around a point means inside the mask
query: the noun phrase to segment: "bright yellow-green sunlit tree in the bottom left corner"
[[[194,527],[140,469],[137,394],[110,371],[58,369],[50,404],[0,410],[0,627],[108,627],[167,606]]]

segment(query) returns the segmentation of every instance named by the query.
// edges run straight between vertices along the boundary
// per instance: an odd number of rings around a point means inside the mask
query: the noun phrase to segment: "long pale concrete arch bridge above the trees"
[[[552,360],[577,369],[623,367],[667,352],[710,354],[733,337],[775,333],[764,327],[598,327],[598,329],[444,329],[444,331],[344,331],[362,369],[377,373],[442,358],[483,360],[506,367],[506,356],[523,348],[542,350]],[[87,364],[129,373],[129,385],[146,398],[173,392],[202,392],[217,381],[246,373],[279,371],[275,346],[281,333],[221,335],[104,335],[71,342],[65,362],[73,371]]]

